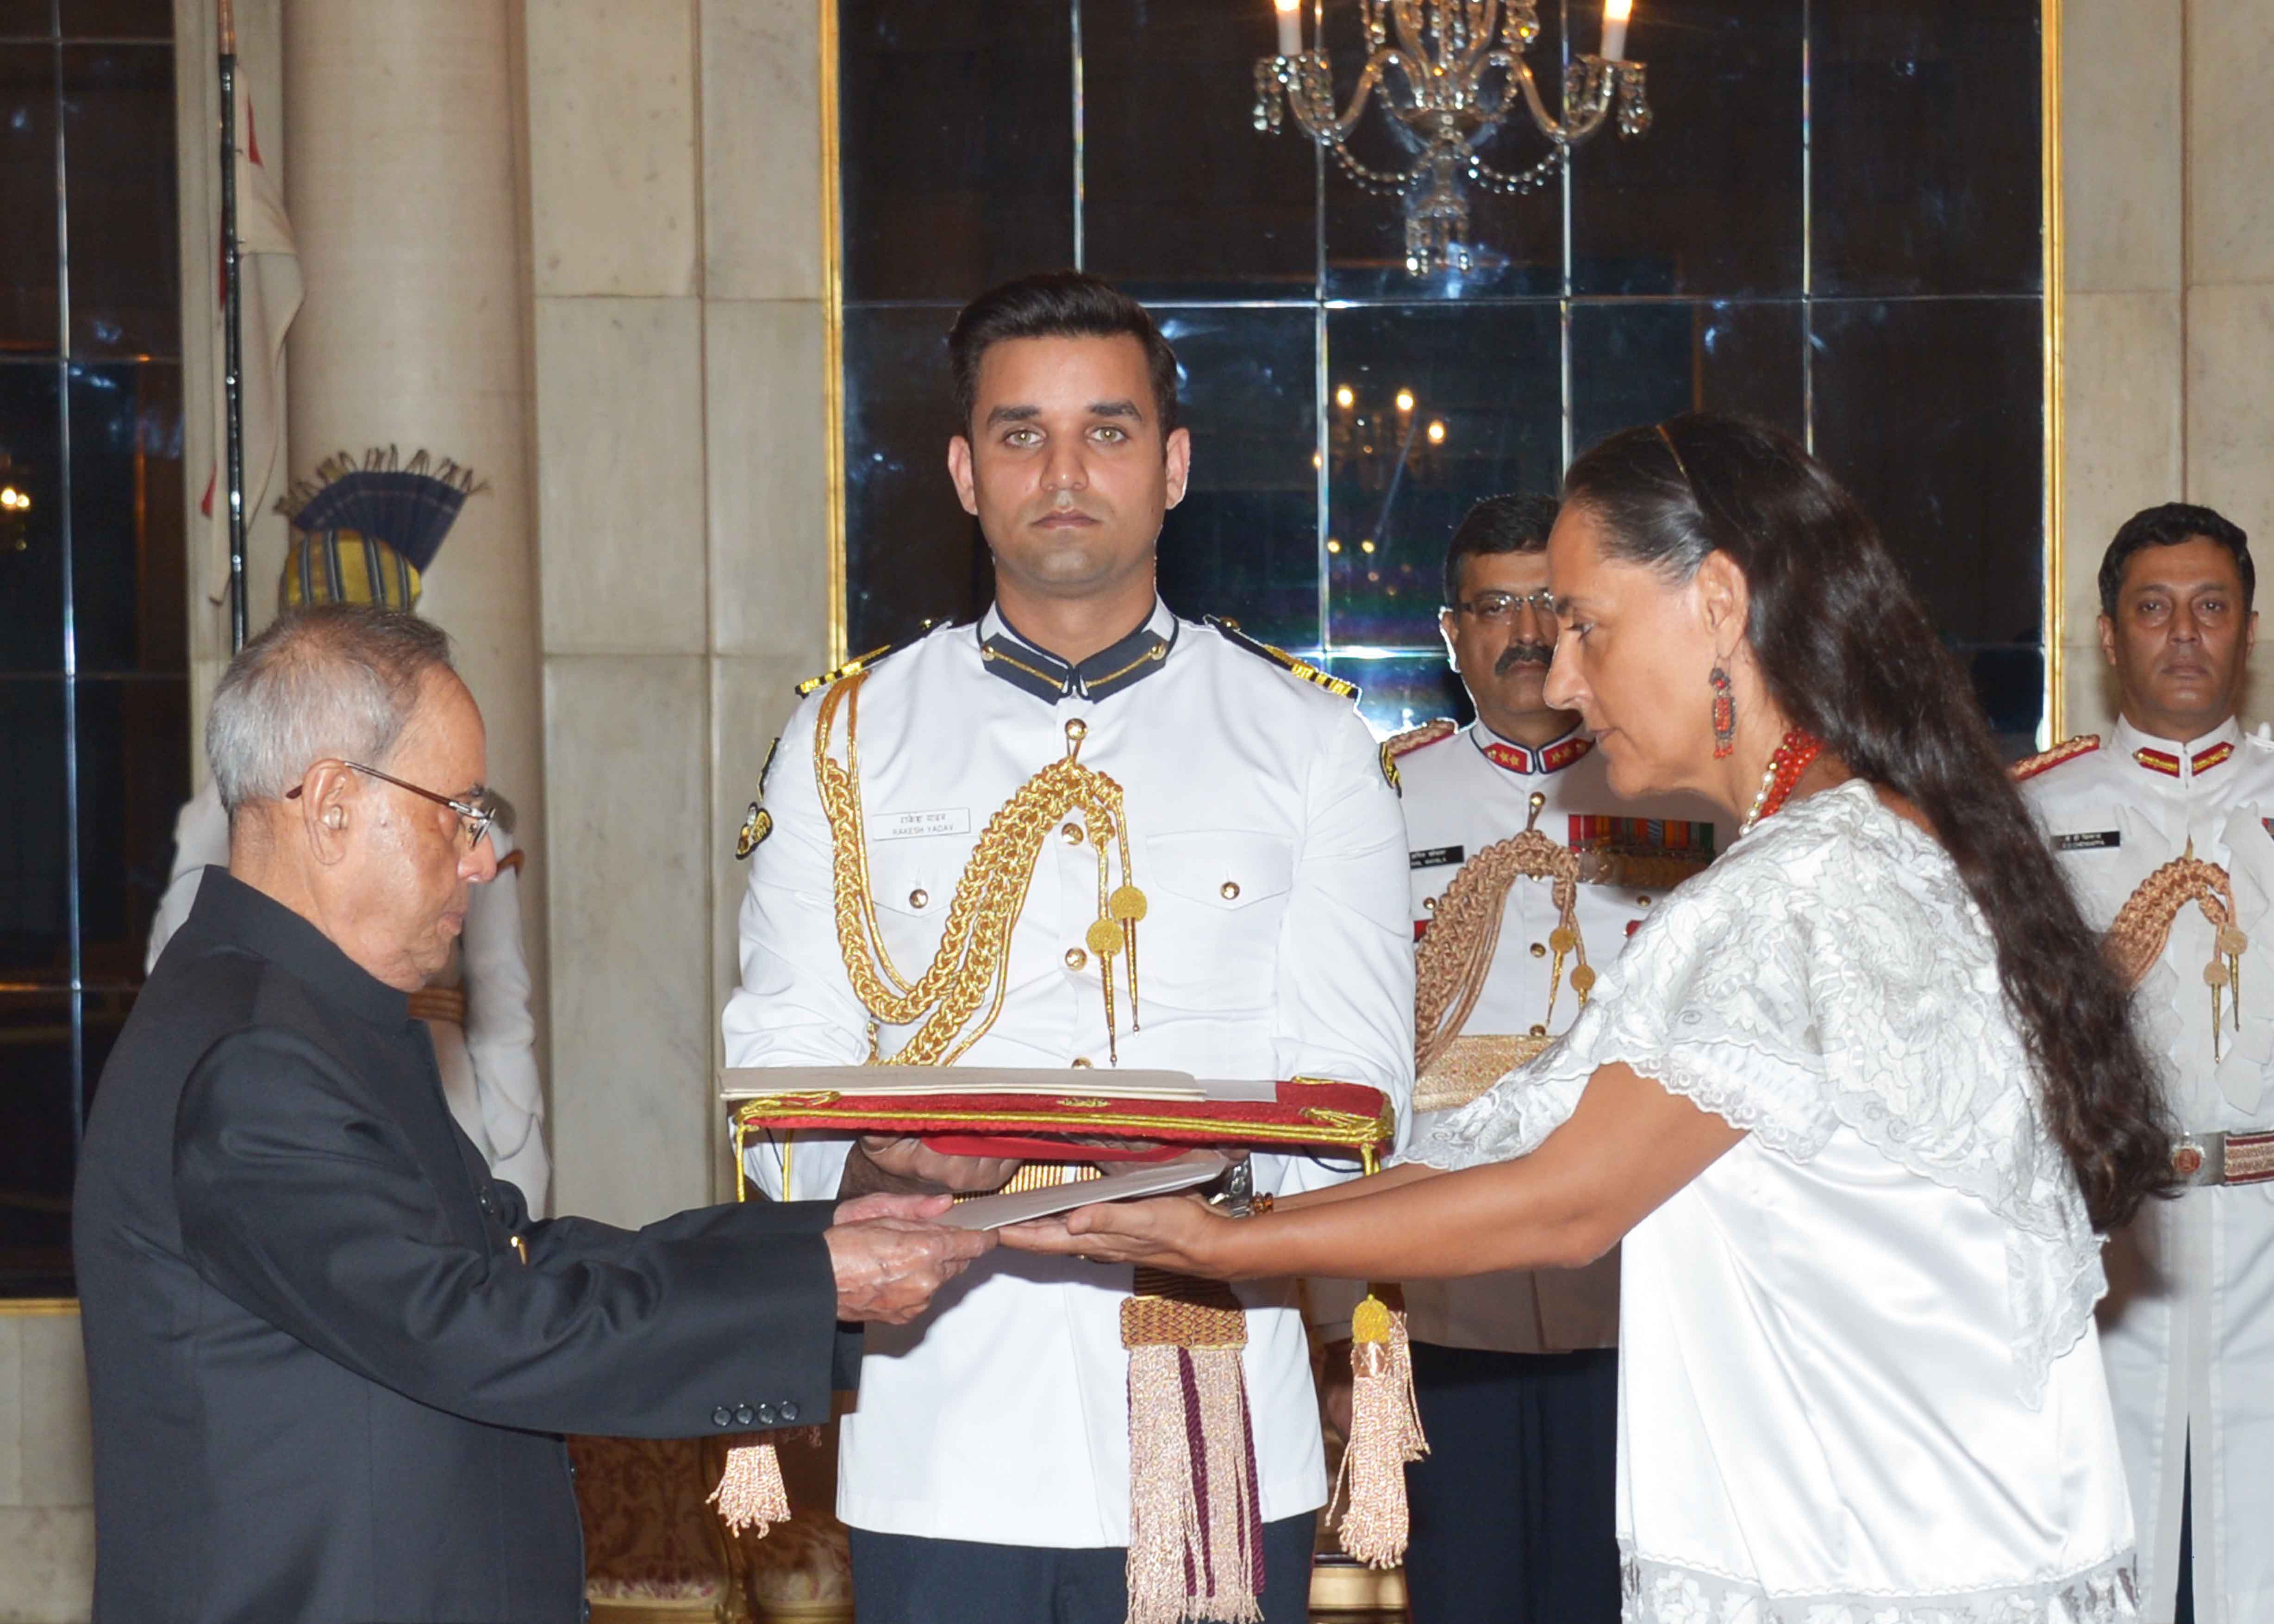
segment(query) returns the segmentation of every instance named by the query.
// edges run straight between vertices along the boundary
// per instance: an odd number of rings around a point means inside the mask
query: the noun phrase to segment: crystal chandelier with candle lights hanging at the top
[[[1612,100],[1621,136],[1651,127],[1642,64],[1621,55],[1633,0],[1605,0],[1603,55],[1576,57],[1565,68],[1562,123],[1539,100],[1524,61],[1539,39],[1535,0],[1360,0],[1369,55],[1351,105],[1339,114],[1326,50],[1303,50],[1301,2],[1273,0],[1280,50],[1255,61],[1255,127],[1280,130],[1292,107],[1303,134],[1333,152],[1351,180],[1378,198],[1405,198],[1405,271],[1412,275],[1476,268],[1467,241],[1471,182],[1503,196],[1533,191],[1569,159],[1574,146],[1603,127]],[[1401,173],[1371,168],[1348,148],[1376,91],[1405,146],[1419,152]],[[1530,168],[1510,173],[1487,164],[1478,150],[1519,98],[1551,150]]]

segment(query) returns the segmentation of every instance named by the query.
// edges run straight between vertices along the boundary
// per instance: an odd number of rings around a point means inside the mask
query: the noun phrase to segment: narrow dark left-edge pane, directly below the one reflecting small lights
[[[0,980],[70,985],[61,678],[0,678]]]

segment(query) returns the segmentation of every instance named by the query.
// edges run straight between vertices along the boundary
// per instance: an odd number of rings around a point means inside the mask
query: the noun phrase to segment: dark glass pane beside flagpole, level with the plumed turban
[[[80,671],[182,671],[182,368],[70,368]]]

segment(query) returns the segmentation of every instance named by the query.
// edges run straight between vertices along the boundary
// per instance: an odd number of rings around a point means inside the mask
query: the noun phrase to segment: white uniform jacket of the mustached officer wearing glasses
[[[1735,828],[1696,796],[1621,801],[1610,789],[1603,755],[1578,730],[1533,751],[1476,721],[1401,753],[1396,764],[1405,796],[1405,844],[1412,853],[1414,939],[1428,928],[1430,910],[1460,864],[1485,846],[1524,832],[1535,794],[1546,796],[1539,832],[1574,851],[1608,835],[1621,851],[1694,855],[1703,867],[1735,837]],[[1605,832],[1585,819],[1621,823]],[[1578,887],[1578,935],[1596,969],[1619,955],[1662,894],[1665,889],[1624,885]],[[1524,1035],[1546,1026],[1549,1035],[1562,1035],[1578,1014],[1578,996],[1571,992],[1576,960],[1562,964],[1551,1012],[1555,955],[1549,951],[1549,933],[1555,928],[1551,883],[1519,878],[1508,887],[1501,944],[1462,1033]],[[1499,1353],[1567,1353],[1619,1342],[1617,1249],[1585,1269],[1408,1281],[1403,1290],[1414,1342]]]

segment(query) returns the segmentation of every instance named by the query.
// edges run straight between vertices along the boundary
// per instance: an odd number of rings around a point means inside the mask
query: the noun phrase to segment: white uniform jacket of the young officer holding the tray
[[[1098,689],[1132,646],[1167,644],[1142,680]],[[1405,832],[1378,746],[1348,698],[1276,669],[1223,632],[1155,605],[1126,644],[1055,698],[1014,687],[989,648],[1067,671],[1001,614],[939,628],[878,662],[857,696],[869,873],[896,964],[930,962],[987,819],[1067,753],[1126,794],[1139,937],[1139,1030],[1117,999],[1126,1067],[1194,1076],[1319,1076],[1412,1096]],[[1139,648],[1144,653],[1144,648]],[[869,1053],[832,926],[830,830],[814,789],[821,696],[791,716],[762,787],[771,835],[741,908],[741,987],[725,1008],[732,1067],[850,1064]],[[841,723],[837,751],[841,753]],[[1010,939],[1001,1014],[971,1064],[1107,1067],[1096,962],[1096,848],[1078,823],[1048,839]],[[885,1026],[889,1058],[910,1028]],[[1101,1078],[1103,1080],[1103,1078]],[[755,1144],[769,1194],[837,1192],[850,1140]],[[1255,1187],[1337,1183],[1351,1162],[1255,1155]],[[1235,1287],[1264,1522],[1326,1501],[1319,1410],[1289,1283]],[[996,1251],[910,1326],[869,1326],[860,1408],[846,1417],[839,1515],[878,1533],[1023,1547],[1128,1542],[1128,1267]]]

